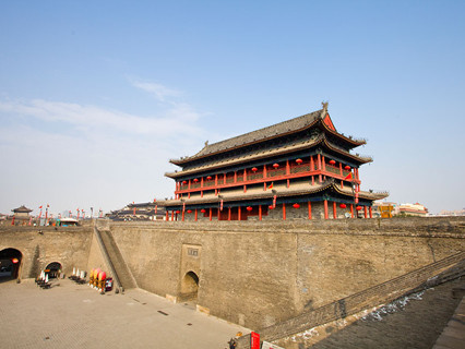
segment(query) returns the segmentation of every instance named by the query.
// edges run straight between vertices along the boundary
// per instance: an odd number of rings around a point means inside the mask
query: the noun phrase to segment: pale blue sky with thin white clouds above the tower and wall
[[[0,213],[174,196],[170,158],[329,101],[362,190],[465,207],[465,1],[0,1]]]

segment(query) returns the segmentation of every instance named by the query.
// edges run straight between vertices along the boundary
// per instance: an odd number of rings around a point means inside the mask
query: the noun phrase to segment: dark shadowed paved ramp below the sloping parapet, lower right
[[[465,278],[410,294],[408,300],[403,298],[382,306],[341,329],[332,323],[278,345],[289,349],[431,349],[436,344],[438,349],[465,349],[463,337],[457,338],[464,335],[458,322],[452,324],[453,330],[444,329],[454,312],[456,318],[465,324],[460,317],[464,309],[457,309],[463,294],[458,292],[457,297],[456,290],[465,290]],[[441,333],[448,338],[438,339]],[[450,347],[445,347],[445,339]]]

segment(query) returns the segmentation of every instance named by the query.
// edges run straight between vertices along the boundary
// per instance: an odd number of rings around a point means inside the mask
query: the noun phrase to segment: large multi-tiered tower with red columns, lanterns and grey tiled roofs
[[[372,161],[351,151],[366,144],[338,133],[321,110],[171,159],[182,170],[171,220],[330,219],[372,217],[374,200],[388,193],[360,190],[359,168]]]

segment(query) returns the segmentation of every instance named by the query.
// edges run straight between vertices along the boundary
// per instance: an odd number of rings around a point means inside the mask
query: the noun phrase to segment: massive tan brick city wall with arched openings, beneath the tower
[[[465,218],[110,222],[138,286],[182,301],[199,276],[201,311],[262,328],[465,250]],[[0,250],[73,266],[102,264],[91,227],[0,228]],[[187,253],[196,250],[194,255]],[[55,251],[55,252],[52,252]],[[71,265],[69,265],[71,264]]]

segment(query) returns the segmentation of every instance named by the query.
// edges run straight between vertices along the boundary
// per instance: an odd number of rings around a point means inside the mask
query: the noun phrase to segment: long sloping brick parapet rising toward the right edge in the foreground
[[[362,310],[389,303],[402,296],[418,292],[463,275],[465,275],[465,252],[460,252],[392,280],[263,328],[259,333],[262,340],[275,341],[335,320],[345,318]],[[245,347],[238,346],[238,348]]]

